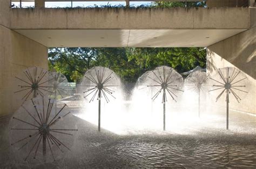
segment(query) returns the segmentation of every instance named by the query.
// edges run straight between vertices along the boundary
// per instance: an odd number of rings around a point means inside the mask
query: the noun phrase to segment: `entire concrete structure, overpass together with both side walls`
[[[207,46],[209,73],[232,65],[250,80],[250,95],[233,109],[256,113],[255,1],[248,1],[250,8],[234,8],[235,0],[208,2],[213,8],[46,9],[41,3],[10,9],[10,2],[0,0],[0,116],[19,106],[14,77],[30,66],[47,69],[47,48],[57,46]]]

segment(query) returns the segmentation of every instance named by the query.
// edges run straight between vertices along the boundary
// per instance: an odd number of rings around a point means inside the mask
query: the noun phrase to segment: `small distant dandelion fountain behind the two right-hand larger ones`
[[[206,91],[206,83],[208,76],[206,72],[194,71],[185,79],[186,90],[196,92],[198,94],[198,117],[200,118],[200,92]]]

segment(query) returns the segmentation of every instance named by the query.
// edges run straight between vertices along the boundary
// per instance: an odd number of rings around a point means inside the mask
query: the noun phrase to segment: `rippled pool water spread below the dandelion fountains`
[[[244,120],[240,116],[247,115],[236,116],[240,122],[231,123],[236,128],[229,131],[212,124],[181,133],[140,131],[123,135],[106,130],[98,133],[97,126],[77,118],[80,130],[72,151],[45,165],[13,158],[2,121],[0,168],[256,168],[256,117]]]

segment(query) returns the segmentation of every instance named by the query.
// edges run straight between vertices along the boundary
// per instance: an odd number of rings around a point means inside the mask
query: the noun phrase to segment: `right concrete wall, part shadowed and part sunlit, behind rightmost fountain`
[[[230,103],[231,108],[256,114],[256,27],[208,46],[207,72],[211,75],[221,67],[234,66],[248,78],[249,93],[241,103]],[[225,106],[225,99],[217,104]]]

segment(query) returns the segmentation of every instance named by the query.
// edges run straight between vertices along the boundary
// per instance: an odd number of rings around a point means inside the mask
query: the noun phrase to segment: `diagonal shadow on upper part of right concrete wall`
[[[248,30],[252,33],[242,32],[223,40],[223,42],[219,42],[219,44],[214,44],[218,45],[220,49],[207,51],[207,70],[213,72],[217,69],[213,61],[214,53],[216,53],[221,57],[221,61],[225,59],[248,76],[256,79],[256,34],[253,33],[255,30],[256,28],[253,28]]]

